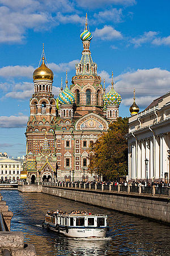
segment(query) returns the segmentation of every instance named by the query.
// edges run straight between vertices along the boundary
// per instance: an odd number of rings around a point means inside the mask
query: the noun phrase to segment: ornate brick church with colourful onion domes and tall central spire
[[[57,99],[52,92],[54,75],[46,63],[44,46],[41,65],[33,72],[34,93],[25,132],[24,170],[28,182],[94,180],[95,172],[88,173],[90,144],[119,116],[121,96],[114,90],[113,72],[111,89],[106,94],[91,57],[87,15],[80,39],[83,51],[75,65],[75,76],[69,86],[66,72]]]

